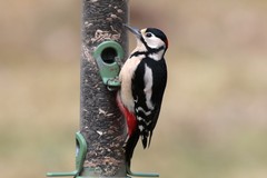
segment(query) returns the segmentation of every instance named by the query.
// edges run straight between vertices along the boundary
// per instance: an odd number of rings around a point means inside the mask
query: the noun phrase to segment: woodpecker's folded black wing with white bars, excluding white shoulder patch
[[[154,109],[149,109],[146,102],[146,93],[144,91],[145,83],[145,69],[146,65],[152,70],[152,96],[151,101]],[[149,147],[152,131],[157,123],[164,91],[167,82],[167,67],[165,60],[156,61],[150,58],[145,58],[136,69],[135,77],[132,78],[132,96],[135,99],[135,110],[138,121],[138,129],[140,129],[140,136],[144,148]],[[140,109],[142,108],[142,109]],[[149,139],[149,140],[148,140]]]

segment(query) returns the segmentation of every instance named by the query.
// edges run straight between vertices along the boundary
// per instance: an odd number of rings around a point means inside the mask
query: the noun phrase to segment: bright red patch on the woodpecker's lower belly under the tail
[[[119,93],[117,93],[117,105],[121,111],[121,113],[123,115],[123,117],[126,118],[126,121],[127,121],[127,129],[128,129],[128,136],[130,137],[136,127],[137,127],[137,120],[136,120],[136,116],[134,113],[131,113],[125,106],[123,103],[121,102],[120,100],[120,96]]]

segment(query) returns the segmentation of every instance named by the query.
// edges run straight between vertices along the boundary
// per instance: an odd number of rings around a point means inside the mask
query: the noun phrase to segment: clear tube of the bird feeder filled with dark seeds
[[[80,130],[87,142],[81,177],[126,177],[125,120],[116,105],[116,92],[107,89],[93,52],[103,41],[118,42],[128,53],[128,0],[82,0],[80,81]],[[107,48],[105,62],[118,51]]]

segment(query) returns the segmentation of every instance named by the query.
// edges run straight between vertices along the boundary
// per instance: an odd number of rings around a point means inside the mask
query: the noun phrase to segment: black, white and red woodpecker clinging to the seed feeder
[[[149,147],[157,123],[167,83],[165,52],[166,34],[156,28],[129,29],[137,38],[137,47],[122,66],[121,88],[117,103],[127,120],[126,161],[130,170],[134,149],[141,137],[144,149]]]

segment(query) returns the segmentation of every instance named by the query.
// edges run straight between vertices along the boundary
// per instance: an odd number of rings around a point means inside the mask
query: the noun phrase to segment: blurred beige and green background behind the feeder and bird
[[[169,81],[134,170],[267,177],[267,1],[132,0],[131,24],[169,38]],[[81,1],[0,4],[1,177],[75,168]],[[135,41],[131,38],[131,49]]]

